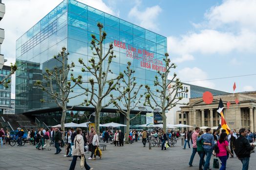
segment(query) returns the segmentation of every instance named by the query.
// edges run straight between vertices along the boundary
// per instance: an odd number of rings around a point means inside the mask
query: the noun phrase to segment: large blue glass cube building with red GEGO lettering
[[[45,68],[52,69],[57,65],[53,55],[58,54],[62,47],[66,47],[70,53],[67,62],[73,61],[76,65],[73,71],[74,76],[82,75],[84,80],[92,77],[81,71],[82,65],[78,59],[83,58],[87,63],[92,57],[91,34],[99,37],[98,22],[104,25],[103,30],[107,33],[104,53],[107,52],[109,43],[113,43],[114,54],[117,56],[110,65],[113,74],[110,74],[109,78],[114,78],[123,72],[127,63],[131,62],[137,85],[152,85],[153,88],[157,70],[163,71],[161,61],[167,51],[165,36],[76,0],[64,0],[16,41],[16,62],[19,68],[16,71],[16,114],[46,113],[57,110],[57,105],[53,102],[40,102],[41,99],[50,100],[51,98],[34,84],[36,80],[43,80]],[[104,66],[107,66],[107,62]],[[77,87],[71,95],[82,92],[83,90]],[[145,87],[140,91],[140,94],[144,93]],[[117,91],[111,94],[119,95]],[[83,102],[85,97],[83,95],[75,98],[69,101],[68,105]],[[108,102],[109,99],[110,97],[107,96],[104,102]],[[93,110],[92,106],[77,107],[77,109]],[[109,105],[103,111],[116,112],[116,108]]]

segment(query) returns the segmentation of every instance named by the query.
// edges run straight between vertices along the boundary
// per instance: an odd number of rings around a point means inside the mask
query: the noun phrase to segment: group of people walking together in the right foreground
[[[228,135],[225,129],[218,134],[215,130],[212,133],[211,128],[207,128],[204,132],[199,127],[196,127],[194,132],[187,133],[185,131],[184,139],[185,144],[189,143],[190,139],[192,142],[193,150],[189,161],[190,167],[192,167],[193,159],[197,152],[200,157],[199,170],[211,170],[210,160],[212,155],[219,158],[221,162],[220,170],[226,170],[227,160],[229,156],[233,158],[234,154],[242,162],[242,170],[248,170],[250,154],[254,150],[253,142],[256,139],[256,135],[244,128],[240,129],[239,133],[232,130]]]

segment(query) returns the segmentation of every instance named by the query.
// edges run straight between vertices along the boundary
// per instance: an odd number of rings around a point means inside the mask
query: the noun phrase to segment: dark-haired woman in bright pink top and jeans
[[[226,133],[221,133],[217,142],[217,146],[219,148],[219,153],[217,153],[217,156],[221,161],[220,170],[226,170],[227,151],[231,156],[233,156],[233,154],[229,150],[229,142],[227,141],[227,136],[228,135]]]

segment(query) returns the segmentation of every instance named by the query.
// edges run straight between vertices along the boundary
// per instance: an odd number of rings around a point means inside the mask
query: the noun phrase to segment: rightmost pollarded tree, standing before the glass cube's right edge
[[[158,70],[158,76],[155,76],[154,79],[154,86],[156,87],[156,90],[153,91],[150,89],[149,85],[146,85],[146,100],[144,105],[149,106],[152,109],[159,108],[161,110],[159,114],[163,119],[163,129],[166,130],[166,112],[177,104],[188,105],[189,103],[181,102],[183,97],[180,97],[181,95],[179,94],[188,92],[188,89],[184,90],[180,79],[176,78],[176,73],[173,74],[170,82],[168,80],[168,74],[171,72],[171,69],[176,68],[176,65],[171,63],[168,53],[165,53],[163,61],[164,72],[160,72]]]

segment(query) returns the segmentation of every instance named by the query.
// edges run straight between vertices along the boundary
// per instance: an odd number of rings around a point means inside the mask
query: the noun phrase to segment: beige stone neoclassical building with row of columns
[[[213,96],[211,104],[206,104],[201,97],[192,98],[188,106],[181,106],[181,111],[176,112],[177,122],[193,127],[218,126],[220,118],[217,109],[220,98],[224,104],[224,117],[231,129],[238,131],[246,128],[256,132],[256,91]],[[235,99],[238,99],[238,104]],[[231,102],[229,109],[227,102]]]

